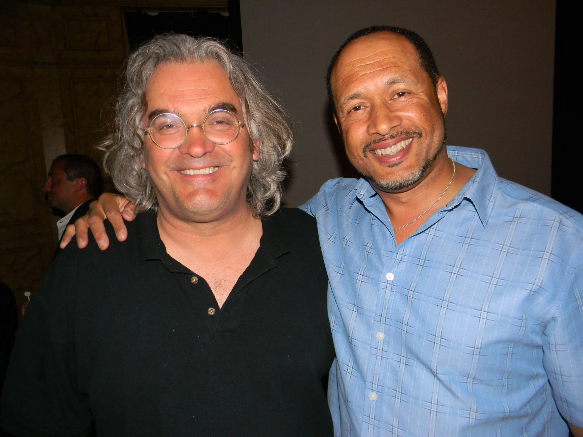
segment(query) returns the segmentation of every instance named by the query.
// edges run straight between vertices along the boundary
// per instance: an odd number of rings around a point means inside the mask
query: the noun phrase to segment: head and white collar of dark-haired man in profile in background
[[[103,192],[101,169],[89,156],[59,155],[52,160],[43,191],[51,207],[65,213],[57,222],[60,241],[67,225],[84,216],[92,200]]]

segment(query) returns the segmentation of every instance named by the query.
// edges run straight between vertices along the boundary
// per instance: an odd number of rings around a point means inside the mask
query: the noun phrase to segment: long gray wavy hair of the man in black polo
[[[144,137],[139,128],[147,109],[147,82],[162,63],[208,60],[218,62],[229,76],[240,98],[251,141],[259,145],[260,157],[253,163],[247,202],[255,217],[272,214],[279,208],[281,182],[286,176],[283,160],[289,156],[293,143],[286,112],[269,96],[258,73],[220,41],[166,34],[153,38],[128,58],[125,83],[115,104],[113,133],[97,146],[103,151],[103,166],[115,188],[135,204],[136,212],[159,210],[152,184],[142,168]]]

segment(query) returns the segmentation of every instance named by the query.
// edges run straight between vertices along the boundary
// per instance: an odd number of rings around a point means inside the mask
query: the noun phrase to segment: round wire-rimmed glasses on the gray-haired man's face
[[[148,130],[144,132],[150,135],[156,146],[162,149],[177,149],[186,141],[190,128],[202,128],[210,142],[225,145],[237,138],[241,126],[244,125],[233,112],[222,109],[210,111],[202,125],[190,126],[187,126],[178,115],[168,112],[156,115],[150,122]]]

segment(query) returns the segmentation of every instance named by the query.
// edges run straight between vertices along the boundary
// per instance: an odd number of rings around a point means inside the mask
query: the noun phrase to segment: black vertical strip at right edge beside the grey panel
[[[581,163],[583,146],[581,90],[578,85],[579,15],[577,3],[557,0],[554,52],[553,162],[551,195],[554,199],[583,213]]]

